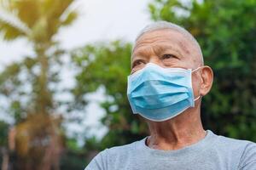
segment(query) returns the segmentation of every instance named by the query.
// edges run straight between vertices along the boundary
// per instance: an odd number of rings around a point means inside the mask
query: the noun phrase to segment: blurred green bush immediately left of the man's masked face
[[[145,123],[131,114],[126,97],[130,43],[115,41],[87,45],[73,51],[73,61],[79,71],[77,86],[73,89],[76,107],[86,103],[84,94],[95,92],[98,88],[105,89],[106,100],[102,102],[102,108],[107,115],[102,118],[102,123],[109,131],[101,140],[98,150],[131,143],[148,133]]]

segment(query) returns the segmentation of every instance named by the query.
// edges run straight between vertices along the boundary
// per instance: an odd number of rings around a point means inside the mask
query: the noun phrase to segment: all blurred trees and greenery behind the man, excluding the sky
[[[131,42],[91,42],[67,50],[56,40],[62,27],[72,26],[79,17],[78,9],[69,8],[73,2],[0,0],[0,10],[11,16],[7,20],[0,15],[0,45],[25,38],[33,49],[32,56],[0,72],[0,99],[5,104],[0,105],[0,114],[14,120],[0,120],[3,170],[83,169],[100,150],[148,135],[146,124],[132,115],[126,98]],[[151,20],[184,26],[201,44],[205,64],[214,71],[212,91],[202,102],[204,127],[255,142],[256,0],[152,0],[145,8]],[[64,59],[68,59],[67,69],[75,72],[75,85],[60,90],[63,75],[58,68],[66,66]],[[101,138],[96,133],[86,135],[86,129],[68,135],[64,112],[86,117],[91,98],[85,96],[99,89],[103,89],[101,108],[106,113],[101,123],[108,131]],[[55,99],[62,94],[71,97]],[[68,122],[79,125],[81,120],[74,116]]]

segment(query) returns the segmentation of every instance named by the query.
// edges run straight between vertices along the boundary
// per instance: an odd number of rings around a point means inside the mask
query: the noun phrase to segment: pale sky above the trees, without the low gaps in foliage
[[[79,10],[79,19],[63,28],[57,39],[64,48],[83,46],[88,42],[122,38],[133,41],[149,21],[149,0],[77,0],[73,8]],[[32,54],[26,40],[3,42],[0,40],[0,68],[21,56]]]

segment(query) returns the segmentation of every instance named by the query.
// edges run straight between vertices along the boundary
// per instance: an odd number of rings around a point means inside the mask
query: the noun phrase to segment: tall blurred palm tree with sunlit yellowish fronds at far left
[[[0,94],[9,101],[6,112],[15,117],[15,169],[59,169],[62,149],[61,116],[54,99],[65,51],[55,36],[70,26],[77,12],[73,0],[1,0],[0,33],[6,41],[25,38],[33,56],[7,66],[0,74]],[[54,87],[54,88],[52,88]]]

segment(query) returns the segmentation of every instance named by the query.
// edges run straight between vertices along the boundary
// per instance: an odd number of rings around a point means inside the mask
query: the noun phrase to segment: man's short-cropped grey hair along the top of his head
[[[139,32],[139,34],[136,37],[135,44],[136,44],[137,40],[143,36],[144,33],[149,32],[149,31],[162,30],[162,29],[170,29],[172,31],[178,31],[179,33],[183,34],[184,37],[188,38],[189,41],[192,42],[195,45],[195,47],[197,48],[197,50],[201,56],[202,65],[204,64],[201,47],[200,47],[199,43],[196,41],[195,37],[193,37],[192,34],[189,31],[185,30],[182,26],[177,26],[176,24],[174,24],[172,22],[160,20],[160,21],[156,21],[152,24],[149,24],[148,26],[144,27],[142,31]],[[132,51],[134,50],[135,44],[132,48]]]

